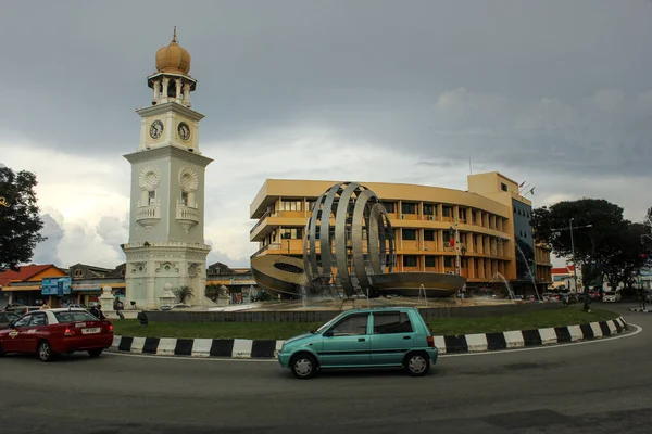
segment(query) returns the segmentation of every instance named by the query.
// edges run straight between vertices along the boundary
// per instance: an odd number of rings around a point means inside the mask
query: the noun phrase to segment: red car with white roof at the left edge
[[[0,330],[0,356],[35,353],[41,361],[58,354],[88,352],[98,357],[113,343],[113,324],[85,309],[46,309],[22,316]]]

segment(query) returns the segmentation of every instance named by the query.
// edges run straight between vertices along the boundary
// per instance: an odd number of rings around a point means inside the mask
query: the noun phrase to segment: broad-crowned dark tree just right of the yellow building
[[[573,231],[570,224],[576,228]],[[563,201],[535,209],[531,225],[538,241],[550,244],[557,257],[572,259],[581,267],[585,310],[588,311],[588,284],[609,264],[614,252],[613,240],[627,231],[623,208],[602,199]]]

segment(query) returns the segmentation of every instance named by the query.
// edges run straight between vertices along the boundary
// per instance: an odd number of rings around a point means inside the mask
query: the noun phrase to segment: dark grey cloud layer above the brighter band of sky
[[[313,122],[429,162],[640,174],[652,157],[649,1],[179,4],[5,5],[0,130],[131,151],[177,25],[204,142]]]

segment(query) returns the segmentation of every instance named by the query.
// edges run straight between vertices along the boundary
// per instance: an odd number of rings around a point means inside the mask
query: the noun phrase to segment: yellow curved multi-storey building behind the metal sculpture
[[[302,257],[304,227],[315,200],[338,181],[267,179],[250,206],[258,255]],[[467,177],[468,191],[361,182],[383,201],[394,231],[396,271],[465,276],[471,288],[510,281],[517,293],[551,283],[550,250],[537,245],[531,202],[499,173]]]

